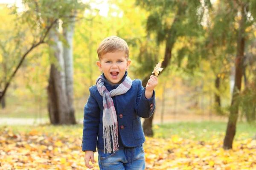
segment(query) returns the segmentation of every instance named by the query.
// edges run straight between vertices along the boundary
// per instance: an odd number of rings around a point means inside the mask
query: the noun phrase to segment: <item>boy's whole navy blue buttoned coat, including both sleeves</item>
[[[127,76],[127,71],[122,81]],[[105,79],[105,86],[108,91],[116,89],[118,85],[110,85]],[[103,101],[96,85],[89,88],[90,96],[84,106],[84,128],[82,151],[98,149],[104,150],[103,143]],[[145,98],[145,88],[140,79],[134,79],[129,91],[119,96],[113,96],[113,103],[116,109],[118,121],[118,142],[119,148],[137,147],[145,142],[140,117],[149,118],[155,108],[155,92],[150,99]],[[121,129],[121,126],[122,129]]]

